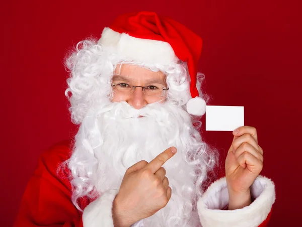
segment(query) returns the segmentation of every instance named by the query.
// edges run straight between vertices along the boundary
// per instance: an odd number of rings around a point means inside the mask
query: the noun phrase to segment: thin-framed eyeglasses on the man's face
[[[168,88],[165,88],[165,87],[159,88],[154,85],[150,85],[150,86],[146,86],[146,87],[132,86],[127,83],[112,83],[111,86],[115,92],[119,92],[119,93],[123,93],[123,94],[132,94],[136,87],[141,87],[142,92],[145,95],[154,96],[154,97],[162,97],[166,94],[166,91],[169,90],[169,87]]]

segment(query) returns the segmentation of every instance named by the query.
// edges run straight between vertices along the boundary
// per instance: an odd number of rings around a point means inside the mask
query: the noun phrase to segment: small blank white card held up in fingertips
[[[234,131],[244,126],[244,106],[207,105],[206,131]]]

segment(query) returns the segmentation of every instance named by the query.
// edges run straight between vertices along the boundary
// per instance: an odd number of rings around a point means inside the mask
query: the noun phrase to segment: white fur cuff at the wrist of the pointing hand
[[[105,192],[84,209],[82,216],[84,227],[113,227],[111,210],[117,192],[117,190]]]

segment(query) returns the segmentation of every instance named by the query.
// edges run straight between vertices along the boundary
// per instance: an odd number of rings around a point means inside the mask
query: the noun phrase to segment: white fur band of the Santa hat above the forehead
[[[126,60],[155,65],[169,65],[178,61],[171,45],[167,42],[135,38],[126,33],[115,32],[110,28],[103,30],[98,43],[112,48],[112,53],[116,53]]]

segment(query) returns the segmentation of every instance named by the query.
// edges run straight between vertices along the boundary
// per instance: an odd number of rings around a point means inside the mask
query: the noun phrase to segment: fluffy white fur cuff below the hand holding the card
[[[275,202],[274,183],[258,176],[251,186],[255,201],[242,209],[221,210],[229,203],[225,177],[213,182],[197,202],[198,214],[203,227],[259,226],[269,214]]]

